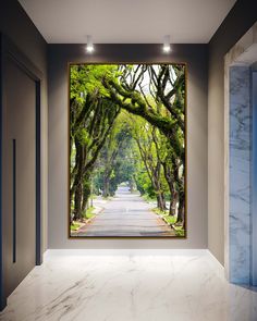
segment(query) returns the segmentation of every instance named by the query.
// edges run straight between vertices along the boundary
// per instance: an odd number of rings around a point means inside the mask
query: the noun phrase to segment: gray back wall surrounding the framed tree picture
[[[207,46],[49,45],[49,248],[207,248]],[[185,62],[187,78],[187,239],[68,238],[69,62]]]

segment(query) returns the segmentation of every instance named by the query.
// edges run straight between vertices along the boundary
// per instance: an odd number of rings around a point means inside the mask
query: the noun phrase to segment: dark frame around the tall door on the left
[[[35,92],[36,92],[36,254],[35,254],[35,266],[40,266],[42,263],[42,222],[41,222],[41,81],[42,73],[30,62],[29,59],[21,52],[20,49],[3,34],[0,34],[0,311],[7,306],[7,295],[4,293],[4,233],[3,233],[3,213],[2,213],[2,139],[3,139],[3,111],[5,107],[5,61],[11,60],[14,62],[23,72],[25,72],[35,82]]]

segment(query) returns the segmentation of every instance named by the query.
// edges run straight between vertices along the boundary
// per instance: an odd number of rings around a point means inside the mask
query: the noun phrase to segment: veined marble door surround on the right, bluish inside
[[[256,52],[257,52],[257,23],[255,23],[244,35],[243,37],[227,52],[224,55],[224,271],[225,276],[229,282],[252,285],[253,280],[253,237],[256,235],[256,231],[253,231],[253,104],[252,104],[252,69],[253,64],[256,63]],[[231,143],[231,131],[235,125],[233,122],[230,122],[230,112],[231,106],[235,106],[234,100],[231,97],[231,71],[232,69],[241,69],[245,67],[245,75],[242,75],[247,81],[247,90],[246,86],[244,89],[247,91],[247,95],[244,96],[244,106],[247,109],[247,128],[238,135],[246,133],[247,138],[244,136],[246,140],[244,152],[247,155],[248,163],[245,165],[247,172],[240,171],[240,165],[231,166],[231,161],[235,160],[233,153],[230,150]],[[235,78],[235,76],[234,76]],[[236,76],[237,78],[237,76]],[[233,90],[232,90],[233,91]],[[232,96],[235,96],[232,92]],[[234,97],[233,97],[234,98]],[[246,111],[246,110],[245,110]],[[238,120],[236,121],[236,125],[241,128],[241,124]],[[237,135],[237,136],[238,136]],[[236,137],[237,137],[236,136]],[[242,136],[240,136],[242,137]],[[234,138],[234,136],[232,136]],[[233,141],[234,144],[234,141]],[[247,147],[246,147],[247,146]],[[233,149],[234,145],[231,146]],[[254,150],[255,153],[255,150]],[[236,162],[235,162],[236,163]],[[231,189],[230,177],[235,177],[238,175],[236,180],[241,182],[245,182],[245,195],[244,200],[241,199],[241,192],[234,193]],[[252,177],[250,177],[252,176]],[[234,183],[234,182],[233,182]],[[232,184],[233,184],[232,183]],[[234,185],[233,185],[234,187]],[[235,202],[235,198],[237,197],[237,201]],[[238,207],[244,207],[244,212],[242,209],[240,212],[236,212]],[[255,206],[255,205],[254,205]],[[241,213],[244,213],[244,218],[242,220]],[[234,227],[234,221],[236,220],[236,229]],[[241,234],[238,233],[241,231]],[[241,244],[238,247],[237,244]],[[255,256],[256,258],[256,256]]]

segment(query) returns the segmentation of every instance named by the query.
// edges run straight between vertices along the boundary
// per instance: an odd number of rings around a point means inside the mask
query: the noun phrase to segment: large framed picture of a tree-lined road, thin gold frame
[[[186,237],[185,64],[69,69],[69,237]]]

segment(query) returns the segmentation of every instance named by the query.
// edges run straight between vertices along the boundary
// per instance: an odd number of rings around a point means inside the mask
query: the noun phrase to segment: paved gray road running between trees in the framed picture
[[[174,236],[174,231],[151,211],[151,206],[128,187],[119,187],[103,207],[77,236]]]

